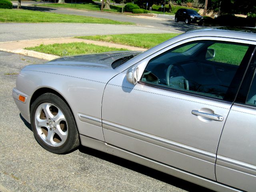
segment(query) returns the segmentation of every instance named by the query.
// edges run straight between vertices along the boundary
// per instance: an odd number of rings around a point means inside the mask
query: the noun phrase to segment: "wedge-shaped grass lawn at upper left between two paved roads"
[[[119,22],[104,18],[93,18],[86,16],[46,13],[40,11],[18,10],[18,9],[0,9],[0,22],[58,22],[58,23],[98,23],[98,24],[125,24],[130,22]]]

